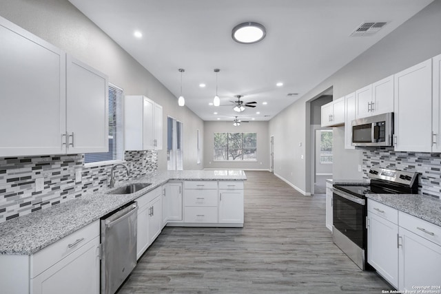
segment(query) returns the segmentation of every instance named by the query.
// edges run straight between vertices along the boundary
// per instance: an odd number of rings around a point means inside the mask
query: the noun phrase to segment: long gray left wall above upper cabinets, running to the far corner
[[[110,83],[126,95],[142,94],[163,106],[163,138],[167,138],[167,116],[184,126],[184,169],[201,169],[196,164],[196,129],[203,120],[187,107],[179,107],[176,97],[132,56],[110,39],[90,19],[67,0],[0,0],[0,16],[36,34],[76,59],[109,76]],[[166,141],[163,145],[166,147]],[[167,169],[166,148],[158,151],[158,169]]]

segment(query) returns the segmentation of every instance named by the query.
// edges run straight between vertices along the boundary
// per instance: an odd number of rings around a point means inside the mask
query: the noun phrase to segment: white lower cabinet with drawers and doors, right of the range
[[[400,291],[441,286],[441,227],[369,199],[367,240],[369,264]]]

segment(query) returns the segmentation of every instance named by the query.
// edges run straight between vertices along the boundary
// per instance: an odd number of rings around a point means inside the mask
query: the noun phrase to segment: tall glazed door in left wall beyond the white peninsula
[[[175,118],[167,118],[167,169],[183,169],[183,123]]]

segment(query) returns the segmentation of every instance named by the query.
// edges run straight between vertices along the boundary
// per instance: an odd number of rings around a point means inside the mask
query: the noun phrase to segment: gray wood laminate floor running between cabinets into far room
[[[381,293],[332,242],[325,195],[246,171],[243,228],[165,227],[119,293]]]

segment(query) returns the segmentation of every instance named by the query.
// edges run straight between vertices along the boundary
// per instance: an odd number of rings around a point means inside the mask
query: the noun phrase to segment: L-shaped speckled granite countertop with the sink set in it
[[[36,253],[169,180],[247,180],[247,176],[240,170],[164,171],[117,182],[113,189],[90,192],[81,198],[1,223],[0,254]],[[149,182],[152,185],[126,195],[106,194],[134,182]]]

